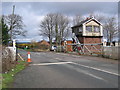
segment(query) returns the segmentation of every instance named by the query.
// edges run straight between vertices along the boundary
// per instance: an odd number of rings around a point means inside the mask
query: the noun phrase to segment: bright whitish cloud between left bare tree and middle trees
[[[28,9],[20,8],[17,12],[22,11],[21,16],[23,17],[24,23],[26,25],[25,30],[27,30],[26,38],[31,38],[34,40],[41,40],[41,36],[39,36],[39,24],[44,16],[40,16],[35,14],[33,11]]]

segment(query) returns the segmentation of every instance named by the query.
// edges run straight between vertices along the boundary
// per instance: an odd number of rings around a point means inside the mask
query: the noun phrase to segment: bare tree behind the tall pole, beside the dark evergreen
[[[4,20],[6,25],[8,26],[11,38],[16,38],[17,35],[25,36],[26,30],[23,29],[25,25],[23,24],[23,20],[20,15],[10,14],[4,16]]]

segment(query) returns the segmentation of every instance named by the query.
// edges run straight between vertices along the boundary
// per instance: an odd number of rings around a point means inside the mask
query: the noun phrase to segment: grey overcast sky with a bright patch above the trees
[[[3,2],[2,14],[12,13],[15,5],[15,14],[23,17],[27,30],[26,39],[42,40],[38,35],[38,25],[47,13],[63,13],[70,17],[80,14],[87,16],[90,13],[100,13],[106,16],[117,15],[117,2]],[[18,37],[23,38],[23,37]]]

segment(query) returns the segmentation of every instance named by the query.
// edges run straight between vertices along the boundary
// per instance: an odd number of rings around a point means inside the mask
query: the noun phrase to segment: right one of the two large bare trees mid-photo
[[[64,38],[69,36],[69,18],[61,13],[55,15],[55,39],[56,45],[61,44]]]

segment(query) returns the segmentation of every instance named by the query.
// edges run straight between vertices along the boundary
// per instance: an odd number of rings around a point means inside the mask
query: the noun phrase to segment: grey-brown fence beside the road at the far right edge
[[[103,56],[111,59],[120,59],[120,46],[104,46]]]

